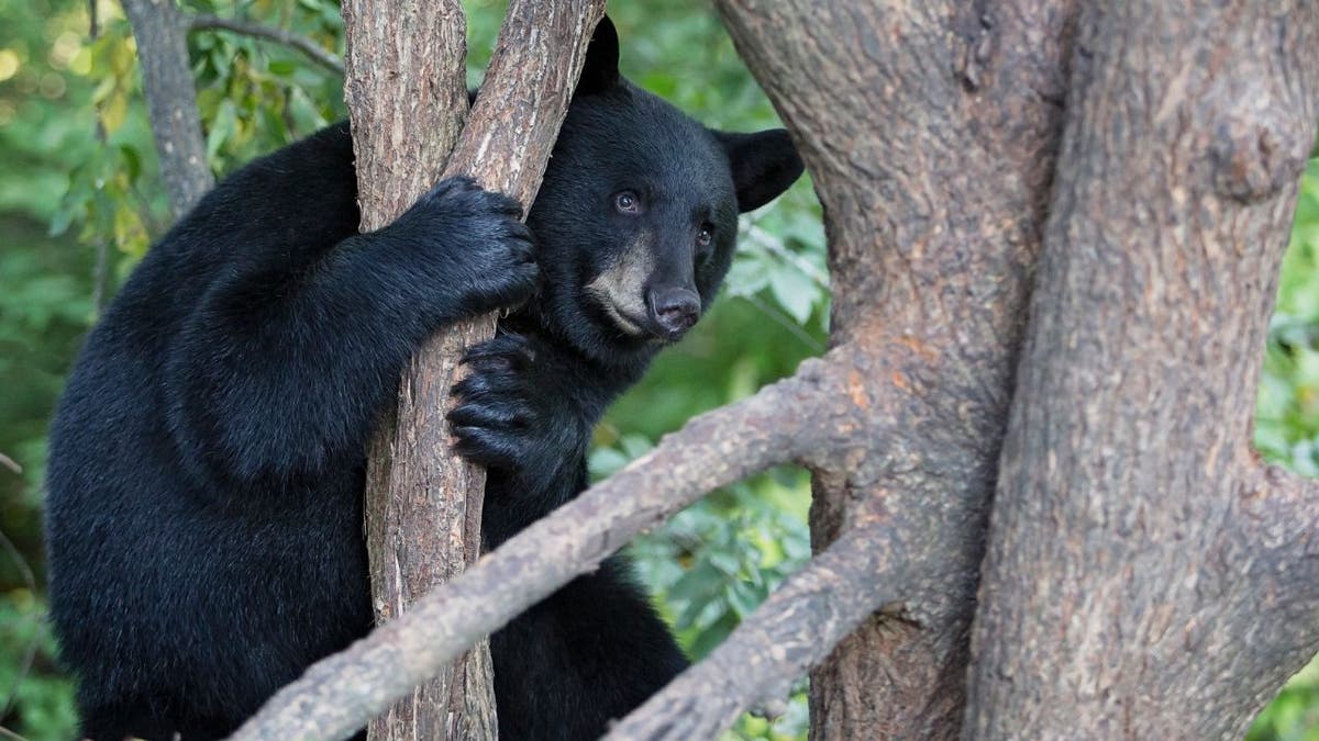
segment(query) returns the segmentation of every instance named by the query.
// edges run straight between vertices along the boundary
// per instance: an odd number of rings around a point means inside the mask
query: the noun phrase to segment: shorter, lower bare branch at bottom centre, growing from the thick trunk
[[[853,526],[748,617],[710,657],[633,711],[608,741],[714,738],[760,700],[782,697],[906,581],[901,539]]]

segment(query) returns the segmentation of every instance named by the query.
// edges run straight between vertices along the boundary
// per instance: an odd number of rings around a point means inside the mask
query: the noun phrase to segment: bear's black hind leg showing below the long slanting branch
[[[501,740],[599,738],[686,668],[629,570],[613,556],[491,638]]]

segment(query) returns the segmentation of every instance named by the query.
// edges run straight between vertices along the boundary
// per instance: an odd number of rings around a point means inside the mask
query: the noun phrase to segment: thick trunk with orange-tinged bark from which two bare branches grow
[[[1071,3],[718,7],[798,137],[827,215],[831,340],[863,357],[871,422],[815,469],[815,547],[882,517],[913,559],[901,604],[811,674],[813,736],[951,737]]]

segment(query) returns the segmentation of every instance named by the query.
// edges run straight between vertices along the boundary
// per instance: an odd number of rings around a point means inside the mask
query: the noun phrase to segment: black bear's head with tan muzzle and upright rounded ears
[[[648,359],[715,298],[737,214],[801,174],[786,131],[707,129],[623,79],[604,18],[528,215],[545,278],[536,311],[591,357]]]

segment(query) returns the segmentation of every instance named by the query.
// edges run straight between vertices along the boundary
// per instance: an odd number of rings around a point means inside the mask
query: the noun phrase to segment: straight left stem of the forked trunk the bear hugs
[[[467,115],[467,24],[458,0],[350,0],[343,17],[357,202],[361,229],[372,231],[435,185],[458,141]],[[400,386],[402,411],[390,415],[372,442],[365,531],[377,625],[460,572],[480,547],[480,472],[443,450],[418,455],[413,447],[442,448],[434,430],[443,423],[443,409],[425,402],[443,398],[455,367],[452,356],[414,359]],[[418,439],[409,426],[430,436]],[[410,490],[396,494],[393,484],[404,481]],[[491,676],[489,647],[479,643],[376,717],[368,737],[489,738]]]

